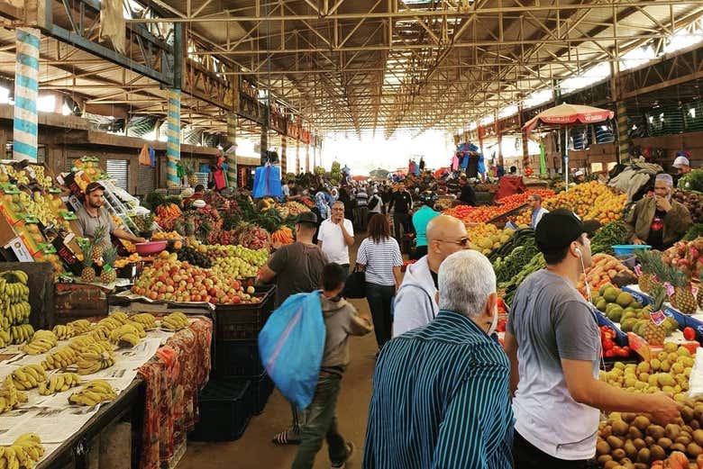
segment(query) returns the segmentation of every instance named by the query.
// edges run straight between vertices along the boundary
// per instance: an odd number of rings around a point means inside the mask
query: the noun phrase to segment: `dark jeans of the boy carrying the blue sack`
[[[347,457],[346,443],[337,428],[335,414],[337,397],[339,397],[341,374],[320,374],[315,387],[313,401],[303,410],[305,423],[300,429],[300,446],[293,461],[293,469],[311,469],[315,464],[315,455],[322,447],[322,440],[327,440],[332,464],[344,462]]]

